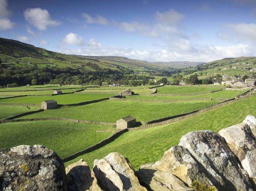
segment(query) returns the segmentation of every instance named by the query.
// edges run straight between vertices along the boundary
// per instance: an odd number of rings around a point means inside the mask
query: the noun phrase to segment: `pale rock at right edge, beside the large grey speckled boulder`
[[[231,151],[238,157],[244,170],[256,180],[256,141],[246,123],[233,125],[218,132],[224,137]]]

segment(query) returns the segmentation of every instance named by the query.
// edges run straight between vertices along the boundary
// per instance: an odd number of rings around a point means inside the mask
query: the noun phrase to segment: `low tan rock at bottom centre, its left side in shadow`
[[[147,187],[148,190],[179,190],[190,191],[182,180],[174,176],[170,172],[162,172],[155,169],[153,166],[144,166],[146,168],[140,168],[137,171],[139,180]]]

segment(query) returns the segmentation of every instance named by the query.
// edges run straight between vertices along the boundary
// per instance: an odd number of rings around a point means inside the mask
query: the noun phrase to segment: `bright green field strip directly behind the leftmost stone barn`
[[[31,97],[19,97],[2,99],[0,103],[31,103],[41,104],[44,100],[56,100],[58,104],[73,104],[92,100],[98,100],[102,98],[109,98],[113,94],[63,94],[63,95],[52,95],[52,96],[31,96]],[[1,107],[1,106],[0,106]]]

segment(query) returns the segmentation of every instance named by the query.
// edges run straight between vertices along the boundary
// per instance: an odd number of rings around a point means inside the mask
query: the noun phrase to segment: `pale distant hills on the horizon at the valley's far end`
[[[146,62],[142,60],[134,60],[129,59],[123,56],[82,56],[82,55],[72,55],[75,57],[83,57],[83,58],[91,58],[91,59],[98,59],[98,60],[108,60],[113,62],[124,63],[128,65],[137,65],[141,67],[171,67],[171,68],[186,68],[186,67],[194,67],[198,65],[205,64],[204,62]]]

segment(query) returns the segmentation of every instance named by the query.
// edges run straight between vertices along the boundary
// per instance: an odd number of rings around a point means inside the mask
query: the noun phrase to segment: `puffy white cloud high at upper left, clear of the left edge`
[[[57,26],[60,22],[51,19],[47,10],[41,8],[28,8],[24,11],[25,19],[40,31],[44,31],[48,26]]]

